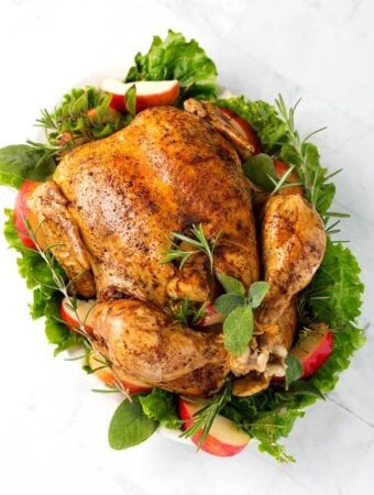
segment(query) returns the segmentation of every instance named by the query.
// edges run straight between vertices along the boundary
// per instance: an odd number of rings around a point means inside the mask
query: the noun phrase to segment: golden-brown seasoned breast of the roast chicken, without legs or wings
[[[164,305],[180,277],[173,265],[160,263],[164,246],[170,231],[194,223],[202,223],[208,238],[222,230],[218,271],[245,285],[258,277],[240,160],[196,116],[172,107],[145,110],[124,130],[66,155],[54,180],[90,253],[99,299],[125,294]],[[205,271],[185,286],[190,299],[209,299]]]

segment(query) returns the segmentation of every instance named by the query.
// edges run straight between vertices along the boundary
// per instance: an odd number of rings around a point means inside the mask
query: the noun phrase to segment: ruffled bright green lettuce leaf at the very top
[[[184,98],[211,99],[216,97],[216,65],[197,42],[187,42],[182,33],[169,30],[164,41],[153,37],[146,55],[136,54],[125,82],[177,79]]]

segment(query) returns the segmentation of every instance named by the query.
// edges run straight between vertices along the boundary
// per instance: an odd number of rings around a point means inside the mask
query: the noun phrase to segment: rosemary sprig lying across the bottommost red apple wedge
[[[217,417],[217,415],[220,414],[220,411],[230,402],[230,399],[231,399],[231,382],[228,381],[223,385],[221,391],[216,395],[216,397],[208,399],[201,407],[201,409],[195,413],[195,415],[193,416],[194,425],[189,427],[187,430],[185,430],[180,435],[180,437],[182,438],[194,437],[199,430],[202,430],[201,437],[198,442],[198,448],[201,447],[201,444],[206,441],[209,435],[215,418]]]

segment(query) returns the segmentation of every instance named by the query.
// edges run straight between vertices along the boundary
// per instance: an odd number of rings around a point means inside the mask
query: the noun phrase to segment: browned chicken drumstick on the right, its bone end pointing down
[[[299,195],[272,196],[262,228],[264,279],[271,284],[258,320],[276,322],[321,264],[326,233],[320,216]]]

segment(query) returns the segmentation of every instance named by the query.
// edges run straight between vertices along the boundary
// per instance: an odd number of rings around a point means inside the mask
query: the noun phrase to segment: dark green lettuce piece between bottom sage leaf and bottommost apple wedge
[[[170,429],[179,429],[177,397],[170,392],[153,388],[151,394],[139,397],[145,416]]]

